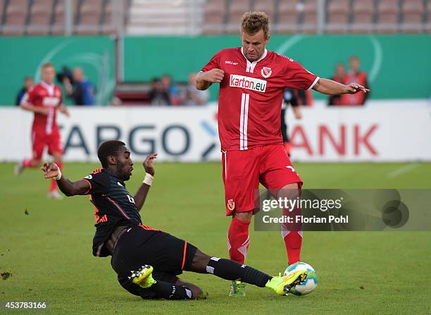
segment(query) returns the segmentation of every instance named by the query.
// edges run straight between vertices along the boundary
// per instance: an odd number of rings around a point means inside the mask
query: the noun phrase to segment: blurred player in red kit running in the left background
[[[35,85],[21,100],[21,108],[35,113],[32,125],[31,159],[18,163],[15,173],[19,175],[24,168],[35,168],[40,165],[45,147],[54,156],[54,163],[63,168],[63,147],[61,145],[60,130],[56,123],[57,111],[69,116],[68,109],[63,106],[61,89],[54,85],[56,70],[51,63],[45,63],[41,69],[42,82]],[[49,197],[59,198],[57,183],[51,180]]]

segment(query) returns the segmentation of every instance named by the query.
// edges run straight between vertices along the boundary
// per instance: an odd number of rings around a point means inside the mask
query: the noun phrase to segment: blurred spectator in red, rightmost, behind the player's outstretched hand
[[[345,76],[344,84],[355,82],[369,89],[367,74],[360,70],[360,61],[356,56],[349,58],[350,71]],[[370,93],[358,92],[356,94],[344,94],[340,99],[342,105],[363,105]]]

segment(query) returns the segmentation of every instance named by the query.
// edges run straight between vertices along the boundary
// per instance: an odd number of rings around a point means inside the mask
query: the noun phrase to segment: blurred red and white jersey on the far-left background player
[[[54,84],[47,85],[45,82],[41,82],[25,94],[21,105],[25,104],[31,104],[37,107],[48,107],[50,109],[48,115],[35,113],[32,129],[51,134],[53,128],[57,127],[56,113],[58,106],[62,104],[60,87]]]

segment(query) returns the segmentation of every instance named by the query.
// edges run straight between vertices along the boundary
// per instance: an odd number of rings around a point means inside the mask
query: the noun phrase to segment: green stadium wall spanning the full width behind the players
[[[239,46],[237,35],[125,37],[126,82],[149,81],[165,73],[187,81],[220,49]],[[37,78],[43,61],[82,66],[106,104],[114,86],[115,44],[111,37],[0,37],[0,104],[13,104],[25,75]],[[373,99],[427,99],[431,92],[431,35],[273,35],[268,49],[294,58],[330,78],[336,63],[361,58]],[[101,89],[102,87],[102,89]],[[211,87],[211,99],[217,98]],[[315,93],[316,99],[325,96]]]

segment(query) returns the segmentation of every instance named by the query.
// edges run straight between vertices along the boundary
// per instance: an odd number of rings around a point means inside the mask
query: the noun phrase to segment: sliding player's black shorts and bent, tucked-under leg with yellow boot
[[[201,297],[199,287],[177,278],[185,267],[192,264],[196,247],[168,233],[158,232],[151,236],[151,241],[142,242],[147,237],[148,229],[135,226],[127,230],[115,245],[111,266],[123,288],[146,299]]]

